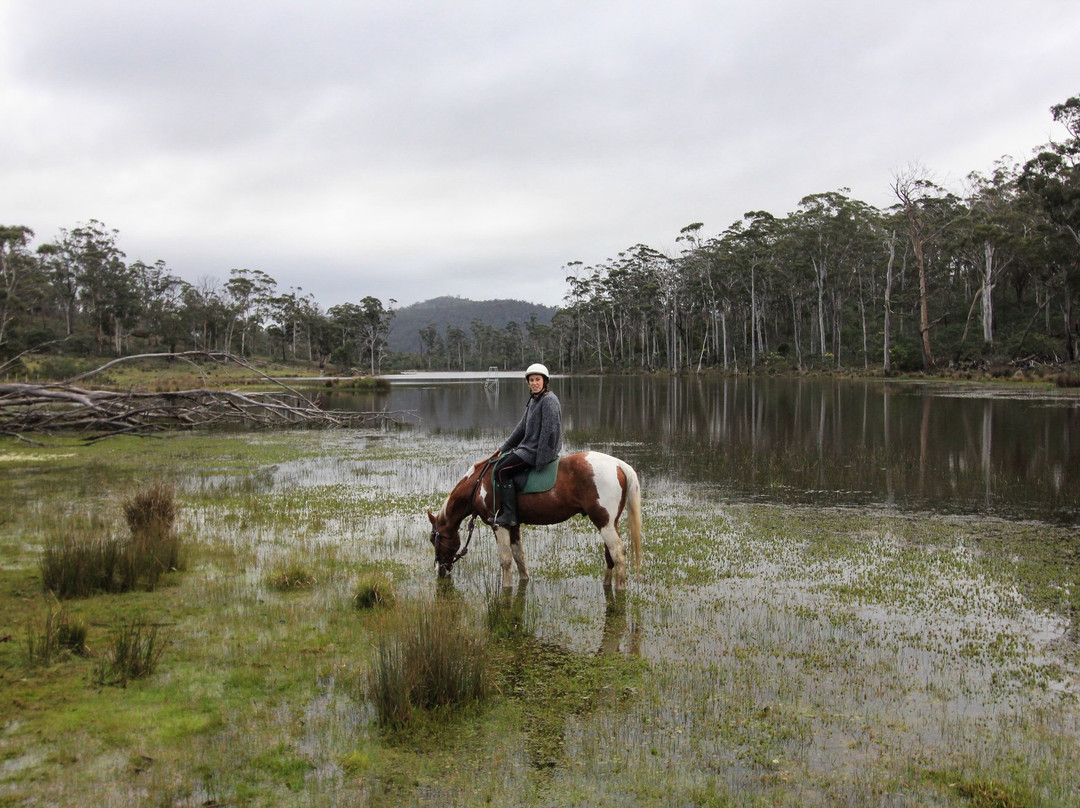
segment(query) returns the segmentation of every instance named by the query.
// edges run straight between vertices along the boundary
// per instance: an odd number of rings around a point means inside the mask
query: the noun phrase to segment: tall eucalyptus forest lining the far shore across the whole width
[[[164,261],[125,262],[91,220],[32,246],[0,227],[0,366],[28,350],[123,355],[228,351],[367,373],[546,362],[556,372],[943,367],[1080,360],[1080,96],[1050,109],[1064,135],[1025,161],[973,172],[956,193],[919,166],[894,204],[847,189],[786,216],[755,211],[676,255],[645,244],[565,268],[550,323],[419,328],[390,351],[394,311],[375,297],[323,310],[265,272],[189,283]],[[391,301],[392,302],[392,301]],[[9,372],[15,364],[8,362]]]

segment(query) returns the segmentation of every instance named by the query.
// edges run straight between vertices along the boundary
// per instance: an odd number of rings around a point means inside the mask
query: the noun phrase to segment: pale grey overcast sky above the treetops
[[[0,0],[0,225],[195,283],[557,305],[747,211],[1059,137],[1077,0]]]

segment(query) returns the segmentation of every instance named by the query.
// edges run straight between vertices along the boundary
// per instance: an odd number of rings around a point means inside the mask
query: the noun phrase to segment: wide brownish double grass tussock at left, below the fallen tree
[[[127,536],[100,520],[68,520],[54,528],[39,557],[42,588],[60,598],[153,590],[164,573],[183,568],[171,485],[136,491],[123,512]]]

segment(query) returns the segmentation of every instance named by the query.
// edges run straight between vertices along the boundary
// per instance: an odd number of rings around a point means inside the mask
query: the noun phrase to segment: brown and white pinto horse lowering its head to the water
[[[525,568],[525,551],[517,527],[494,524],[491,463],[498,453],[473,464],[446,497],[438,515],[428,511],[431,520],[431,543],[435,547],[438,576],[450,575],[454,563],[469,552],[472,538],[470,523],[465,547],[461,549],[461,522],[476,517],[491,526],[499,549],[502,585],[513,584],[511,561],[517,564],[521,578],[529,577]],[[604,585],[616,589],[626,585],[626,552],[616,526],[625,509],[630,520],[630,550],[637,569],[642,557],[642,486],[633,467],[617,457],[600,452],[580,452],[559,459],[555,487],[537,494],[517,495],[517,519],[528,525],[554,525],[579,513],[592,521],[604,537],[607,573]]]

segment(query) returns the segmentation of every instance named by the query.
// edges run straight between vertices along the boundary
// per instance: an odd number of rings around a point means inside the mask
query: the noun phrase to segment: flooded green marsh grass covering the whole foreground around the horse
[[[583,521],[523,530],[512,591],[483,539],[438,583],[424,511],[485,446],[4,444],[0,805],[1080,800],[1072,528],[643,475],[627,592]],[[52,537],[125,530],[183,563],[46,592]]]

